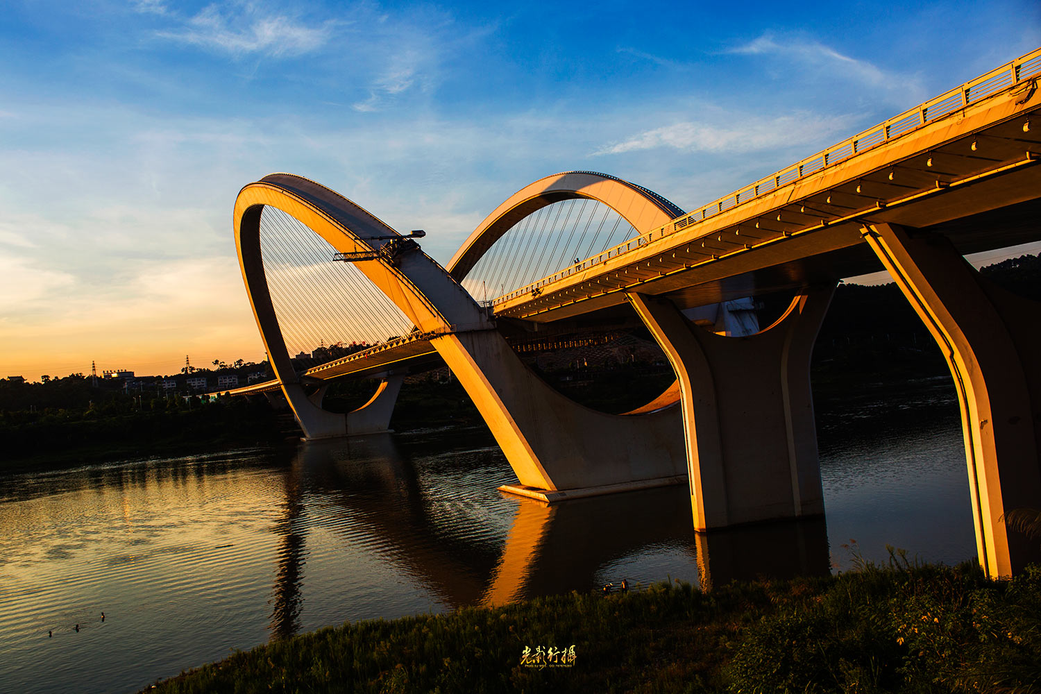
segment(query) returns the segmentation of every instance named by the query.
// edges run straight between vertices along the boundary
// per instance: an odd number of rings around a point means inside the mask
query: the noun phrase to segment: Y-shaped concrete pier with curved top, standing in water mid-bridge
[[[796,297],[746,337],[703,330],[666,299],[628,294],[680,383],[694,530],[823,513],[810,355],[833,292]]]

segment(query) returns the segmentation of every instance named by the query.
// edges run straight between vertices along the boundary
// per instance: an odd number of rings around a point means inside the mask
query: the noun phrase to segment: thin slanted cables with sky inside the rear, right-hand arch
[[[462,286],[479,301],[491,300],[635,235],[631,224],[600,201],[562,200],[510,227],[478,260]]]

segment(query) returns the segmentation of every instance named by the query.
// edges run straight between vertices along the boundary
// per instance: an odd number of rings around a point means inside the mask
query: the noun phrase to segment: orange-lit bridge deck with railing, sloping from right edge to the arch
[[[1033,165],[1041,159],[1038,72],[1041,50],[500,297],[496,315],[556,320],[623,304],[624,291],[671,292],[682,306],[704,305],[811,283],[822,264],[814,256],[845,249],[854,250],[830,258],[828,273],[881,269],[863,245],[865,223],[946,225],[963,253],[1038,240],[1033,215],[1012,209],[1041,197],[1041,170]],[[1035,126],[1024,128],[1032,115]],[[989,217],[985,234],[957,223],[1002,208],[1012,211]]]

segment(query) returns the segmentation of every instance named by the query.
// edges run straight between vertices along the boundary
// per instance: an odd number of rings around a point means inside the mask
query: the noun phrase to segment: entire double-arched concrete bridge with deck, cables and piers
[[[266,176],[233,222],[275,379],[230,392],[280,392],[308,438],[373,433],[406,374],[447,364],[516,473],[506,491],[686,483],[697,531],[815,516],[813,343],[839,278],[885,267],[950,367],[980,561],[1009,575],[1039,558],[1004,521],[1041,506],[1039,310],[963,256],[1041,240],[1039,78],[1041,49],[689,211],[612,176],[549,176],[443,267],[418,234]],[[788,309],[758,326],[750,298],[777,292]],[[562,395],[516,349],[633,326],[676,382],[620,415]],[[346,378],[381,385],[353,412],[322,409]]]

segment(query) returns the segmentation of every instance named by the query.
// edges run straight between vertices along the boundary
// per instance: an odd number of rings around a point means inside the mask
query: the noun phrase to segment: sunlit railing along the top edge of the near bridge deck
[[[778,188],[792,184],[799,179],[816,174],[824,169],[828,169],[829,166],[833,166],[850,159],[878,147],[879,145],[892,142],[897,137],[902,137],[924,125],[943,118],[944,115],[954,113],[961,108],[965,108],[969,104],[993,96],[1002,89],[1018,84],[1019,82],[1037,79],[1039,73],[1041,73],[1041,48],[1032,51],[1022,57],[1016,58],[1015,60],[1007,62],[1000,68],[992,70],[985,75],[981,75],[975,79],[965,82],[954,89],[944,92],[940,96],[930,99],[914,108],[909,108],[888,121],[884,121],[883,123],[868,128],[867,130],[857,133],[853,137],[842,140],[838,145],[834,145],[821,152],[817,152],[816,154],[802,159],[790,166],[785,166],[781,171],[778,171],[765,178],[761,178],[755,183],[742,186],[734,192],[723,196],[722,198],[718,198],[708,205],[703,205],[692,212],[688,212],[683,216],[672,220],[664,227],[655,229],[654,231],[648,232],[641,236],[635,236],[624,243],[619,243],[618,246],[608,249],[603,253],[586,258],[582,262],[565,267],[554,275],[543,277],[542,279],[536,280],[531,284],[514,289],[509,293],[497,297],[492,300],[492,304],[502,304],[503,302],[516,299],[517,297],[523,297],[524,294],[537,297],[541,293],[542,287],[548,284],[567,278],[575,273],[588,269],[593,265],[598,265],[606,260],[629,253],[630,251],[642,248],[653,240],[660,239],[677,231],[687,229],[688,227],[704,222],[705,220],[709,220],[720,212],[733,209],[738,205],[751,202],[752,200],[766,194],[773,192]]]

